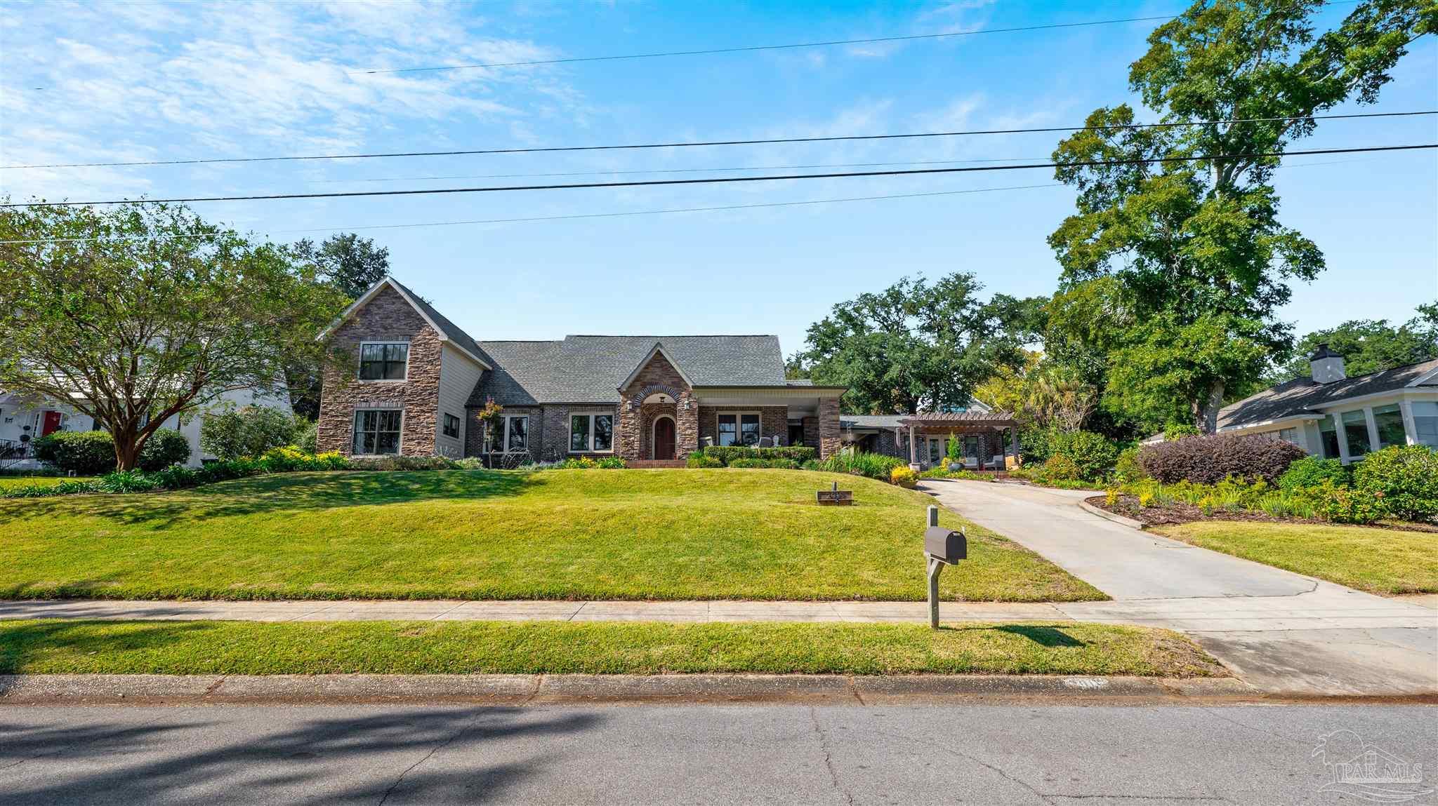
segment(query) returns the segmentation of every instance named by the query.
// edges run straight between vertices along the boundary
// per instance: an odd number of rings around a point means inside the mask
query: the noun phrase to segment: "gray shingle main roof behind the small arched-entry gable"
[[[470,405],[618,402],[618,385],[664,346],[696,386],[784,386],[778,336],[565,336],[551,342],[479,342],[495,365]]]

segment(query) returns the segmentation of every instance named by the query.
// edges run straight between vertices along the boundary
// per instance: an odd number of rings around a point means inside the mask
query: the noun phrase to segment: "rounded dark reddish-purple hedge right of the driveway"
[[[1139,464],[1165,484],[1217,484],[1229,476],[1273,483],[1304,455],[1303,448],[1286,440],[1209,434],[1146,445]]]

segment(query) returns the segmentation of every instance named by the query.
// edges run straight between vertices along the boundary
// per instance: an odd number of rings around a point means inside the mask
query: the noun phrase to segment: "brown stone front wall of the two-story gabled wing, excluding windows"
[[[360,381],[360,342],[408,342],[404,381]],[[331,336],[331,349],[345,358],[325,369],[319,399],[318,447],[349,455],[355,409],[401,409],[400,453],[434,454],[440,395],[441,342],[424,319],[394,289],[384,287]]]

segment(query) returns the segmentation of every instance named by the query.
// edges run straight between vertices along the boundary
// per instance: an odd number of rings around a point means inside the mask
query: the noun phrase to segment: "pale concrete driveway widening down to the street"
[[[1129,529],[1078,507],[1094,493],[949,480],[920,488],[1114,599],[1060,605],[1071,618],[1179,629],[1264,691],[1438,694],[1438,611],[1421,603]]]

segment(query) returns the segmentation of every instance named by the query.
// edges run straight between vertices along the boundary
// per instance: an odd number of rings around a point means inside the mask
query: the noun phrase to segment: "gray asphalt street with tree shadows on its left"
[[[1435,717],[1425,705],[3,705],[0,803],[1373,800],[1355,787],[1434,803]],[[1330,764],[1365,757],[1379,763],[1366,777],[1385,780],[1334,790]],[[1422,764],[1424,780],[1388,780],[1402,777],[1395,760]]]

